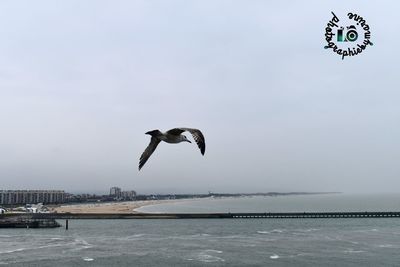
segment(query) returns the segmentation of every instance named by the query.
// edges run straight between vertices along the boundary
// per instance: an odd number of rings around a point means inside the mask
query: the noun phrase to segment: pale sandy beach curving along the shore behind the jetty
[[[179,200],[146,200],[146,201],[126,201],[126,202],[109,202],[109,203],[88,203],[88,204],[71,204],[50,207],[51,212],[57,213],[138,213],[135,209],[156,205],[161,203],[171,203]]]

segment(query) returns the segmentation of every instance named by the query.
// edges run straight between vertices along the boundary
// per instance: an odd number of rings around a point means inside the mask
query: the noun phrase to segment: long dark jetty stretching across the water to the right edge
[[[265,212],[265,213],[38,213],[37,219],[317,219],[399,218],[400,212]]]

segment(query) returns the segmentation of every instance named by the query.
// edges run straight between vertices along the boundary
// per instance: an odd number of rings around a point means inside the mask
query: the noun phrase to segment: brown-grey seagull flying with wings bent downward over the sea
[[[149,131],[146,134],[151,135],[150,144],[144,150],[142,156],[140,156],[139,160],[139,171],[146,163],[146,161],[150,158],[151,154],[153,154],[154,150],[156,150],[158,144],[161,141],[170,143],[170,144],[177,144],[180,142],[189,142],[191,143],[186,136],[182,133],[188,131],[192,134],[194,140],[197,143],[197,146],[200,148],[200,152],[204,155],[206,151],[206,143],[204,140],[204,135],[198,129],[192,128],[174,128],[165,133],[160,132],[159,130]]]

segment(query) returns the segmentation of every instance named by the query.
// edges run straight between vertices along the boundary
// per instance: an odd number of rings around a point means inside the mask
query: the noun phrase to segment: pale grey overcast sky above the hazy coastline
[[[1,1],[0,189],[400,192],[398,1]],[[373,47],[325,45],[353,11]],[[195,127],[207,149],[148,130]]]

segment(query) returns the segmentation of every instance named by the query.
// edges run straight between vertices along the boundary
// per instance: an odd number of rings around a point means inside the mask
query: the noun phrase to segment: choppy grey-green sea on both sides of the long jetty
[[[400,210],[400,195],[203,199],[152,212]],[[64,224],[64,221],[60,221]],[[400,219],[70,220],[0,229],[8,266],[400,266]]]

